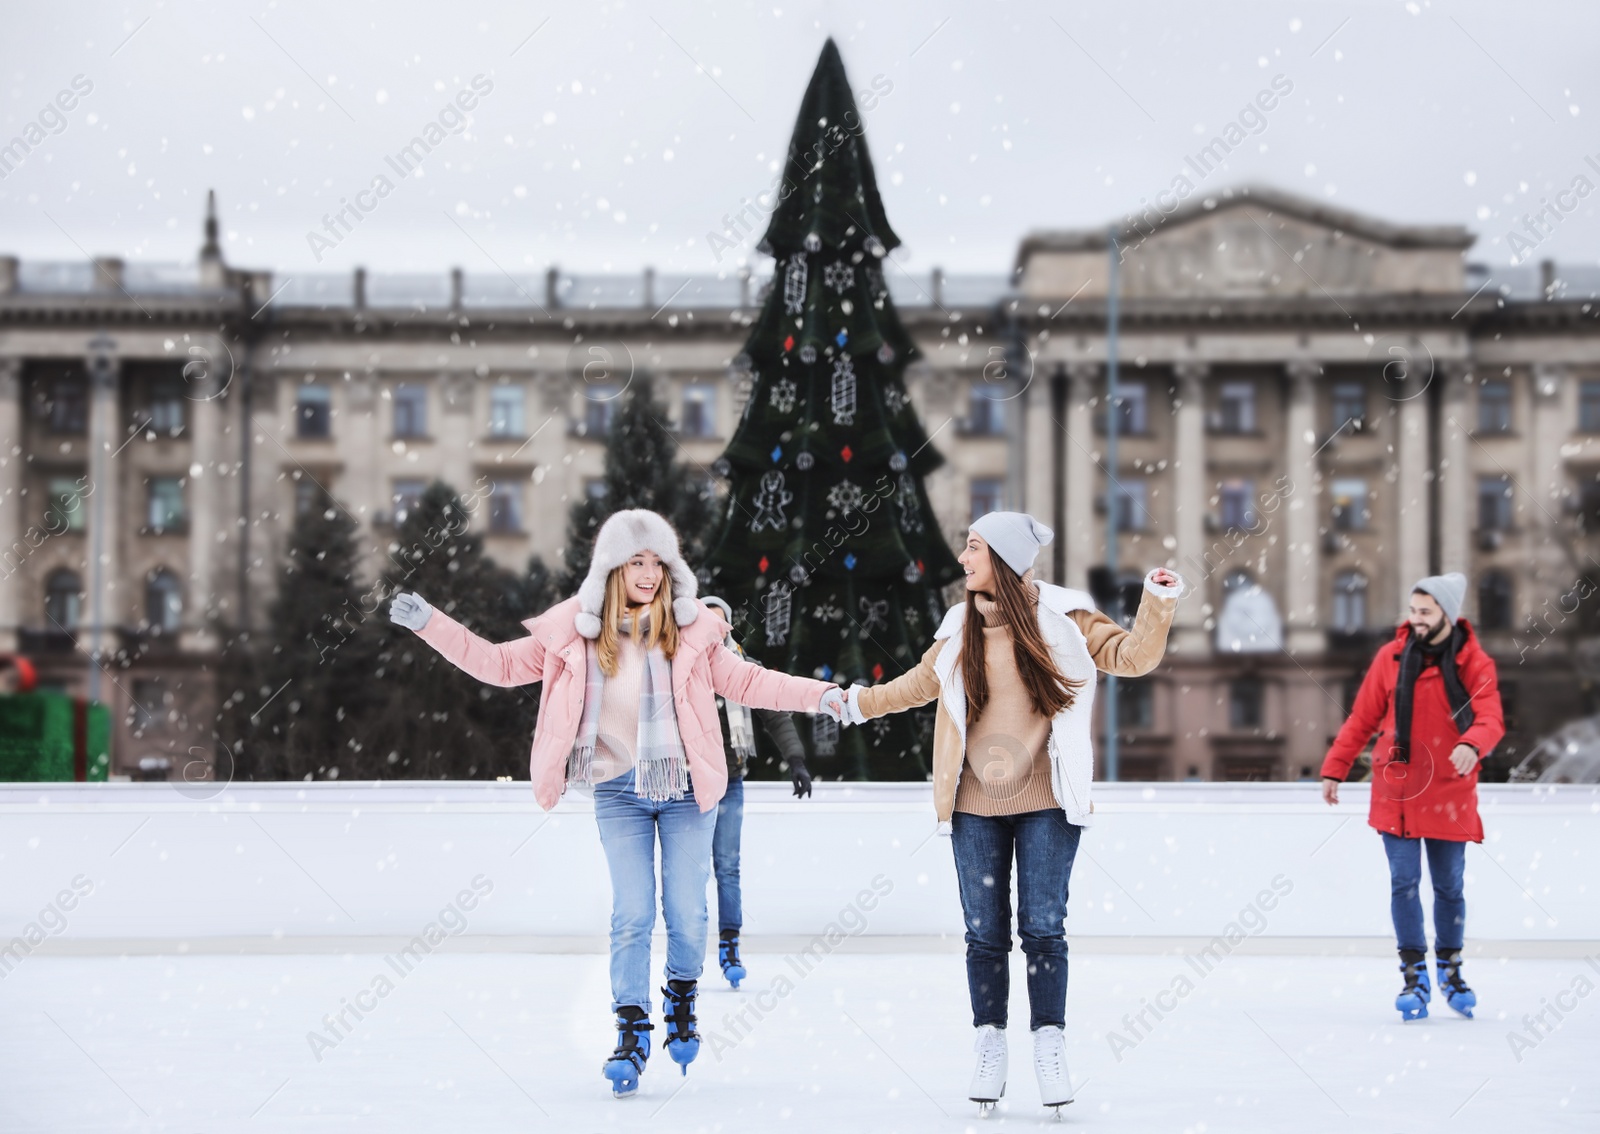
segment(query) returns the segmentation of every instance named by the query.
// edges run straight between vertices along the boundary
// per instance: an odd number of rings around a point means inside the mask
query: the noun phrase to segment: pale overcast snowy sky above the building
[[[1104,224],[1186,171],[1466,224],[1504,264],[1541,197],[1600,187],[1597,32],[1594,3],[1490,0],[16,3],[5,138],[42,141],[0,179],[0,251],[192,261],[214,187],[240,266],[717,272],[755,240],[718,262],[707,237],[774,184],[832,34],[851,86],[886,90],[864,120],[907,269],[1005,272],[1029,229]],[[469,125],[400,179],[386,158],[458,125],[475,75]],[[1277,75],[1293,91],[1198,181],[1186,158]],[[379,174],[394,190],[314,251]],[[1595,262],[1600,194],[1565,200],[1534,256]]]

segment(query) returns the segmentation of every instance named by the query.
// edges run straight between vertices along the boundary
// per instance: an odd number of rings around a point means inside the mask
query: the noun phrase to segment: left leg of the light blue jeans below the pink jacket
[[[595,822],[611,870],[611,1011],[650,1011],[650,934],[656,928],[654,805],[634,793],[634,773],[595,784]]]

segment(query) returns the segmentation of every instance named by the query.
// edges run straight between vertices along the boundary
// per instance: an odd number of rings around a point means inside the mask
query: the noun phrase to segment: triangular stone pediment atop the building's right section
[[[1018,251],[1018,288],[1040,299],[1104,296],[1109,242],[1107,229],[1030,234]],[[1389,224],[1266,187],[1182,200],[1165,192],[1117,226],[1120,294],[1458,293],[1472,242],[1459,226]]]

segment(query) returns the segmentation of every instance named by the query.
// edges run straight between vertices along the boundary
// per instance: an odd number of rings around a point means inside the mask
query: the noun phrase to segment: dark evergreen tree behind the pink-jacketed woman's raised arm
[[[490,641],[520,638],[522,621],[534,614],[525,606],[528,579],[496,566],[469,525],[456,491],[429,485],[395,531],[382,593],[414,590]],[[387,600],[371,625],[381,640],[376,685],[384,707],[365,737],[365,777],[526,779],[533,689],[499,689],[462,673],[389,622]]]

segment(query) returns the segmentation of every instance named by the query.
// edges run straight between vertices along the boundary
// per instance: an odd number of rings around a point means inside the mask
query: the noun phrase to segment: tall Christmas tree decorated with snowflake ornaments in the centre
[[[906,395],[917,347],[883,282],[899,237],[832,40],[778,195],[760,245],[774,278],[736,360],[750,398],[715,465],[730,491],[704,576],[744,616],[752,657],[872,685],[917,664],[960,568],[923,488],[942,457]],[[843,733],[814,717],[802,739],[816,776],[923,779],[931,710]]]

